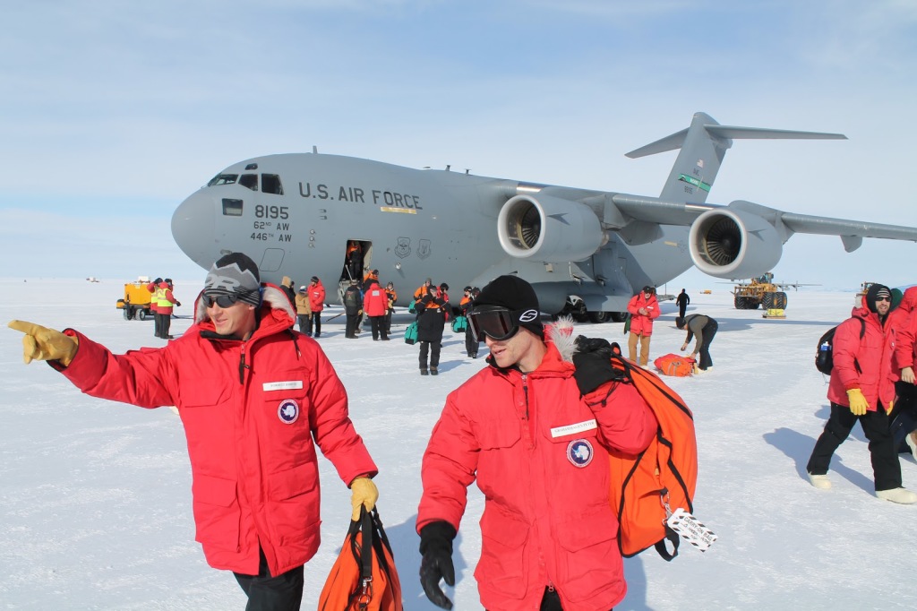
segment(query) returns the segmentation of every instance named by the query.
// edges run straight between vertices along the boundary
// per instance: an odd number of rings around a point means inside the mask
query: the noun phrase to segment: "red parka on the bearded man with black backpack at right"
[[[866,323],[865,328],[861,320]],[[829,401],[849,406],[847,391],[859,388],[866,397],[869,411],[876,411],[878,402],[886,407],[890,405],[895,397],[895,385],[890,376],[894,344],[887,328],[888,325],[882,327],[878,314],[869,310],[866,295],[863,295],[863,306],[855,307],[851,317],[838,325],[834,332],[834,368],[828,385]]]

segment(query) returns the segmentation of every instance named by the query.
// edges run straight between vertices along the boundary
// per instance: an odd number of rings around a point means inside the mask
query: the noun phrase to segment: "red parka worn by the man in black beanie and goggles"
[[[474,575],[491,611],[534,611],[548,585],[566,611],[607,611],[626,593],[605,449],[645,450],[656,418],[628,383],[607,405],[610,383],[580,398],[573,371],[550,342],[535,372],[491,363],[447,396],[426,448],[417,530],[438,520],[458,530],[477,479]]]

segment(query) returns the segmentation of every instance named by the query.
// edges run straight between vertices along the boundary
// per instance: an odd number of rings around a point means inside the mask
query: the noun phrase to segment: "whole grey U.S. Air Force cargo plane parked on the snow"
[[[547,314],[596,322],[624,316],[645,285],[695,265],[718,278],[772,269],[794,233],[917,241],[917,228],[812,217],[737,200],[705,203],[733,139],[845,139],[841,134],[724,126],[696,113],[691,127],[627,157],[680,149],[658,197],[414,170],[311,153],[267,155],[219,172],[175,210],[172,235],[204,269],[230,251],[259,263],[262,280],[318,276],[328,301],[351,276],[378,269],[403,294],[432,278],[483,286],[504,274],[532,283]],[[329,282],[330,281],[330,282]],[[339,303],[340,291],[337,291]]]

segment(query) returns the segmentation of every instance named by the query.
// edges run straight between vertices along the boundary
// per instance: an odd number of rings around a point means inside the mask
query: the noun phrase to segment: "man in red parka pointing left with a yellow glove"
[[[165,348],[116,355],[83,334],[14,320],[25,361],[49,361],[84,393],[140,407],[175,405],[193,474],[207,563],[232,571],[249,609],[298,609],[303,565],[319,545],[315,443],[371,509],[375,463],[348,417],[344,386],[313,340],[293,331],[282,291],[242,253],[207,273],[194,324]],[[354,517],[354,519],[356,519]]]

